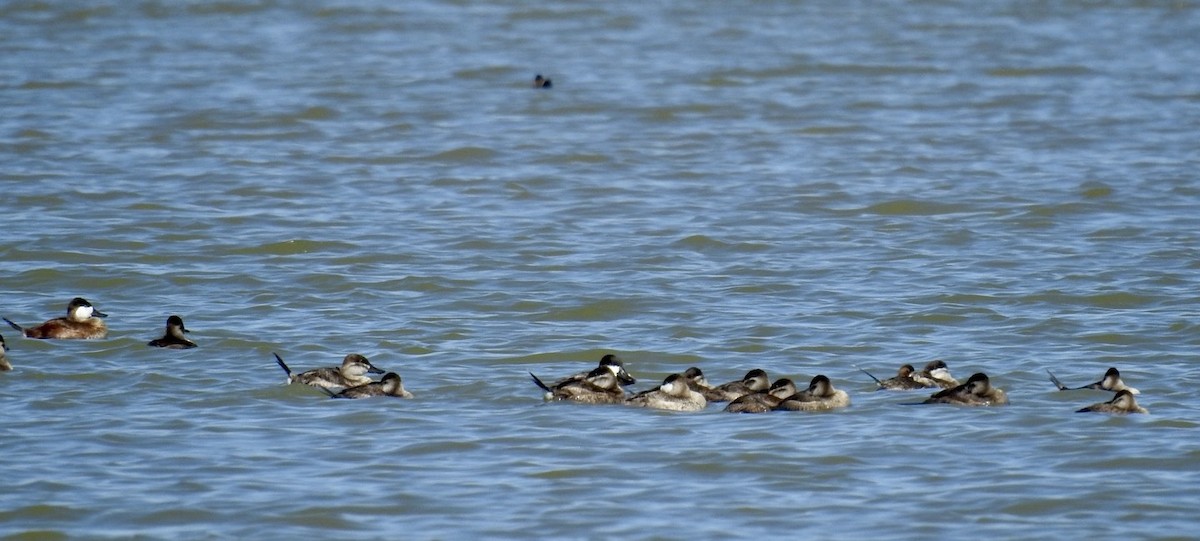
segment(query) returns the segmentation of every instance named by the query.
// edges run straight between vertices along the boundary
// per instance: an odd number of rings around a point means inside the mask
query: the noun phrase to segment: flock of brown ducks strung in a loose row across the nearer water
[[[98,339],[108,336],[108,327],[103,320],[106,317],[108,314],[96,309],[85,299],[74,297],[67,305],[66,317],[54,318],[34,327],[23,327],[8,318],[2,319],[28,338]],[[184,336],[185,332],[188,330],[184,326],[184,319],[179,315],[170,315],[167,318],[163,336],[150,341],[148,345],[169,349],[197,347],[196,342]],[[346,355],[340,366],[300,373],[293,372],[278,354],[274,355],[275,361],[287,373],[288,384],[310,385],[323,390],[334,398],[377,396],[413,398],[413,393],[404,389],[400,374],[385,373],[359,354]],[[7,359],[7,345],[4,336],[0,336],[0,371],[11,369],[12,363]],[[912,365],[902,365],[896,375],[888,379],[878,379],[865,369],[863,372],[875,380],[876,390],[938,389],[922,402],[925,404],[1008,404],[1008,395],[992,386],[988,374],[978,372],[972,374],[966,383],[960,384],[950,375],[949,367],[941,360],[930,361],[919,372]],[[1112,399],[1082,408],[1078,410],[1080,413],[1148,413],[1134,399],[1134,395],[1138,395],[1139,391],[1126,385],[1116,368],[1109,368],[1103,379],[1081,387],[1068,387],[1054,373],[1046,372],[1050,374],[1050,381],[1062,391],[1093,389],[1115,392]],[[370,374],[383,374],[383,377],[376,381]],[[568,375],[553,384],[546,384],[533,373],[529,373],[529,377],[545,392],[546,401],[626,404],[673,411],[698,411],[706,409],[709,403],[727,402],[725,411],[730,413],[826,411],[850,405],[850,395],[835,389],[824,374],[814,377],[808,387],[799,389],[788,378],[770,381],[767,372],[760,368],[751,369],[739,380],[714,386],[709,385],[700,368],[691,367],[683,373],[667,375],[662,384],[655,387],[630,395],[624,386],[632,385],[637,380],[625,369],[625,363],[613,354],[604,355],[595,368]]]

